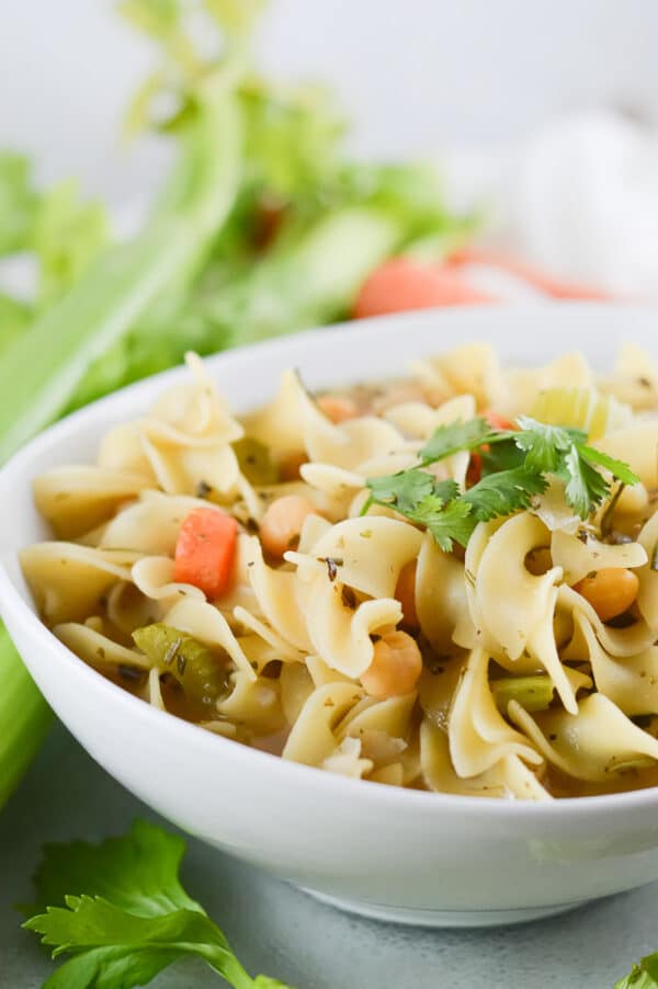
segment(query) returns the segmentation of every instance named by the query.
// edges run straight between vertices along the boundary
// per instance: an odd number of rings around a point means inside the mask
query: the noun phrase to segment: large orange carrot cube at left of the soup
[[[228,589],[238,523],[215,509],[193,509],[183,520],[174,554],[174,580],[200,588],[207,598]]]

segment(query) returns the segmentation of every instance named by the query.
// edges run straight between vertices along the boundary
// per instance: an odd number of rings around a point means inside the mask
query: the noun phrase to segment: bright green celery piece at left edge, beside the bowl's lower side
[[[52,721],[50,708],[0,625],[0,807],[32,762]]]

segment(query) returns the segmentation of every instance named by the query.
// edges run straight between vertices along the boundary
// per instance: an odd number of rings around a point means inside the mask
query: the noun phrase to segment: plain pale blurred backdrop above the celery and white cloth
[[[0,146],[121,201],[161,162],[117,147],[151,53],[113,7],[0,0]],[[367,154],[507,140],[599,105],[658,121],[655,0],[273,0],[260,48],[334,86]]]

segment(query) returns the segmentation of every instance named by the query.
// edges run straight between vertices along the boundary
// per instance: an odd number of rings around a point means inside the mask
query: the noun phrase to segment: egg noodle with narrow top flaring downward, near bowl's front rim
[[[477,776],[507,755],[540,765],[542,757],[508,725],[496,707],[488,682],[489,658],[474,649],[457,684],[450,711],[447,737],[458,776]]]

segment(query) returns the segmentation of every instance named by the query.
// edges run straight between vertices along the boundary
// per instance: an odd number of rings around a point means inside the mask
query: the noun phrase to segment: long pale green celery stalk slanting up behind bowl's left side
[[[105,252],[3,355],[0,463],[57,417],[90,362],[166,288],[193,277],[234,204],[240,163],[240,112],[229,95],[191,126],[166,208],[134,240]]]

